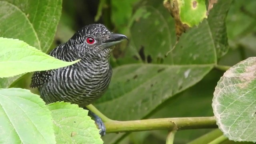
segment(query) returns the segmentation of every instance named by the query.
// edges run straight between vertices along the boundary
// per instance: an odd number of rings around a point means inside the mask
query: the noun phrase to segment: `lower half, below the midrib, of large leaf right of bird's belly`
[[[196,84],[212,66],[119,66],[114,69],[112,82],[96,106],[114,120],[141,119],[168,98]]]

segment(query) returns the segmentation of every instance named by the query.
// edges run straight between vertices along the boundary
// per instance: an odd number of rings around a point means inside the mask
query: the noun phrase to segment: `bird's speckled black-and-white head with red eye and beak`
[[[128,38],[123,34],[110,32],[103,24],[90,24],[78,30],[68,41],[70,49],[79,57],[105,57],[115,44]]]

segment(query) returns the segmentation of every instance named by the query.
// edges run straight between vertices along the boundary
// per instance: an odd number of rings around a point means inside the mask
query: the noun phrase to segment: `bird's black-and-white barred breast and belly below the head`
[[[47,103],[63,100],[85,106],[104,94],[111,76],[107,62],[67,66],[52,73],[52,79],[40,90],[41,96]]]

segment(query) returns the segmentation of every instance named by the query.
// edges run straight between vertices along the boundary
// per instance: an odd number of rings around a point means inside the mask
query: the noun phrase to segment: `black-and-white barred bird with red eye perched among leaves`
[[[123,40],[128,40],[127,36],[110,32],[103,24],[84,26],[49,54],[67,62],[80,61],[62,68],[34,72],[30,87],[38,88],[46,104],[64,101],[86,109],[106,92],[112,77],[110,55],[114,45]],[[105,135],[103,121],[93,112],[91,114],[100,134]]]

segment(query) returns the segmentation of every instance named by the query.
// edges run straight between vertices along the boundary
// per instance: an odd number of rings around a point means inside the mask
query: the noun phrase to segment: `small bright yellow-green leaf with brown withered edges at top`
[[[206,16],[205,0],[177,0],[180,20],[190,27],[198,26]]]

